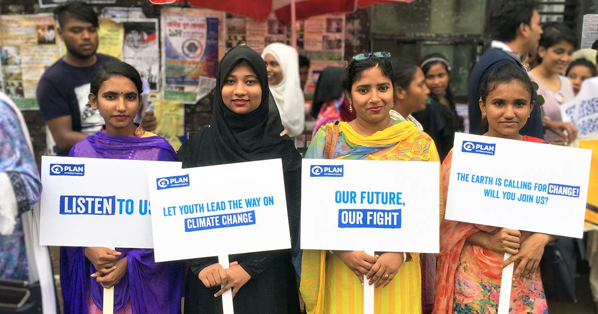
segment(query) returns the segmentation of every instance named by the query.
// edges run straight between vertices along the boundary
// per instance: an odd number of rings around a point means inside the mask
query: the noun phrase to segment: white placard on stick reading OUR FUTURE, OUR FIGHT
[[[438,162],[304,159],[301,173],[302,249],[438,253]]]

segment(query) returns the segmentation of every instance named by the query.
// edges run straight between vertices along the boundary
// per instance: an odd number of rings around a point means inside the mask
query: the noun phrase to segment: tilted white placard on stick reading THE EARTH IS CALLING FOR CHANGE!
[[[581,238],[590,158],[590,150],[457,133],[444,218]],[[502,272],[501,314],[512,273],[513,263]]]

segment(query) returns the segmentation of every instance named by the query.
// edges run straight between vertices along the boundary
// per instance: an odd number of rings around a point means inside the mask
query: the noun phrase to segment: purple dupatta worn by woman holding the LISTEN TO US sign
[[[140,132],[141,130],[141,132]],[[144,134],[141,127],[136,134]],[[174,161],[175,151],[160,136],[113,136],[97,132],[75,144],[71,157]],[[181,313],[184,263],[155,263],[153,249],[121,249],[127,257],[127,273],[114,286],[114,310],[130,301],[136,314]],[[60,279],[65,314],[88,314],[87,294],[102,309],[103,289],[90,275],[96,269],[84,254],[84,248],[60,248]]]

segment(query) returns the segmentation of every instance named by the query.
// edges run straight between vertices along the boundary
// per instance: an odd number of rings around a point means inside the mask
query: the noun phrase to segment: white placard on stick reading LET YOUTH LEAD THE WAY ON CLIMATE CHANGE
[[[147,182],[156,261],[218,256],[227,269],[228,254],[291,248],[280,159],[155,171]],[[222,307],[233,313],[231,289]]]

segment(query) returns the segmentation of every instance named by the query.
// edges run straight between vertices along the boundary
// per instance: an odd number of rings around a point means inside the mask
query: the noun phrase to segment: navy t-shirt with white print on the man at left
[[[91,109],[87,99],[91,75],[106,62],[118,59],[101,53],[96,56],[96,64],[86,68],[69,65],[60,59],[45,70],[36,93],[39,111],[45,121],[71,115],[74,131],[93,134],[100,129],[104,120],[99,112]],[[68,156],[68,151],[57,149],[56,153]]]

